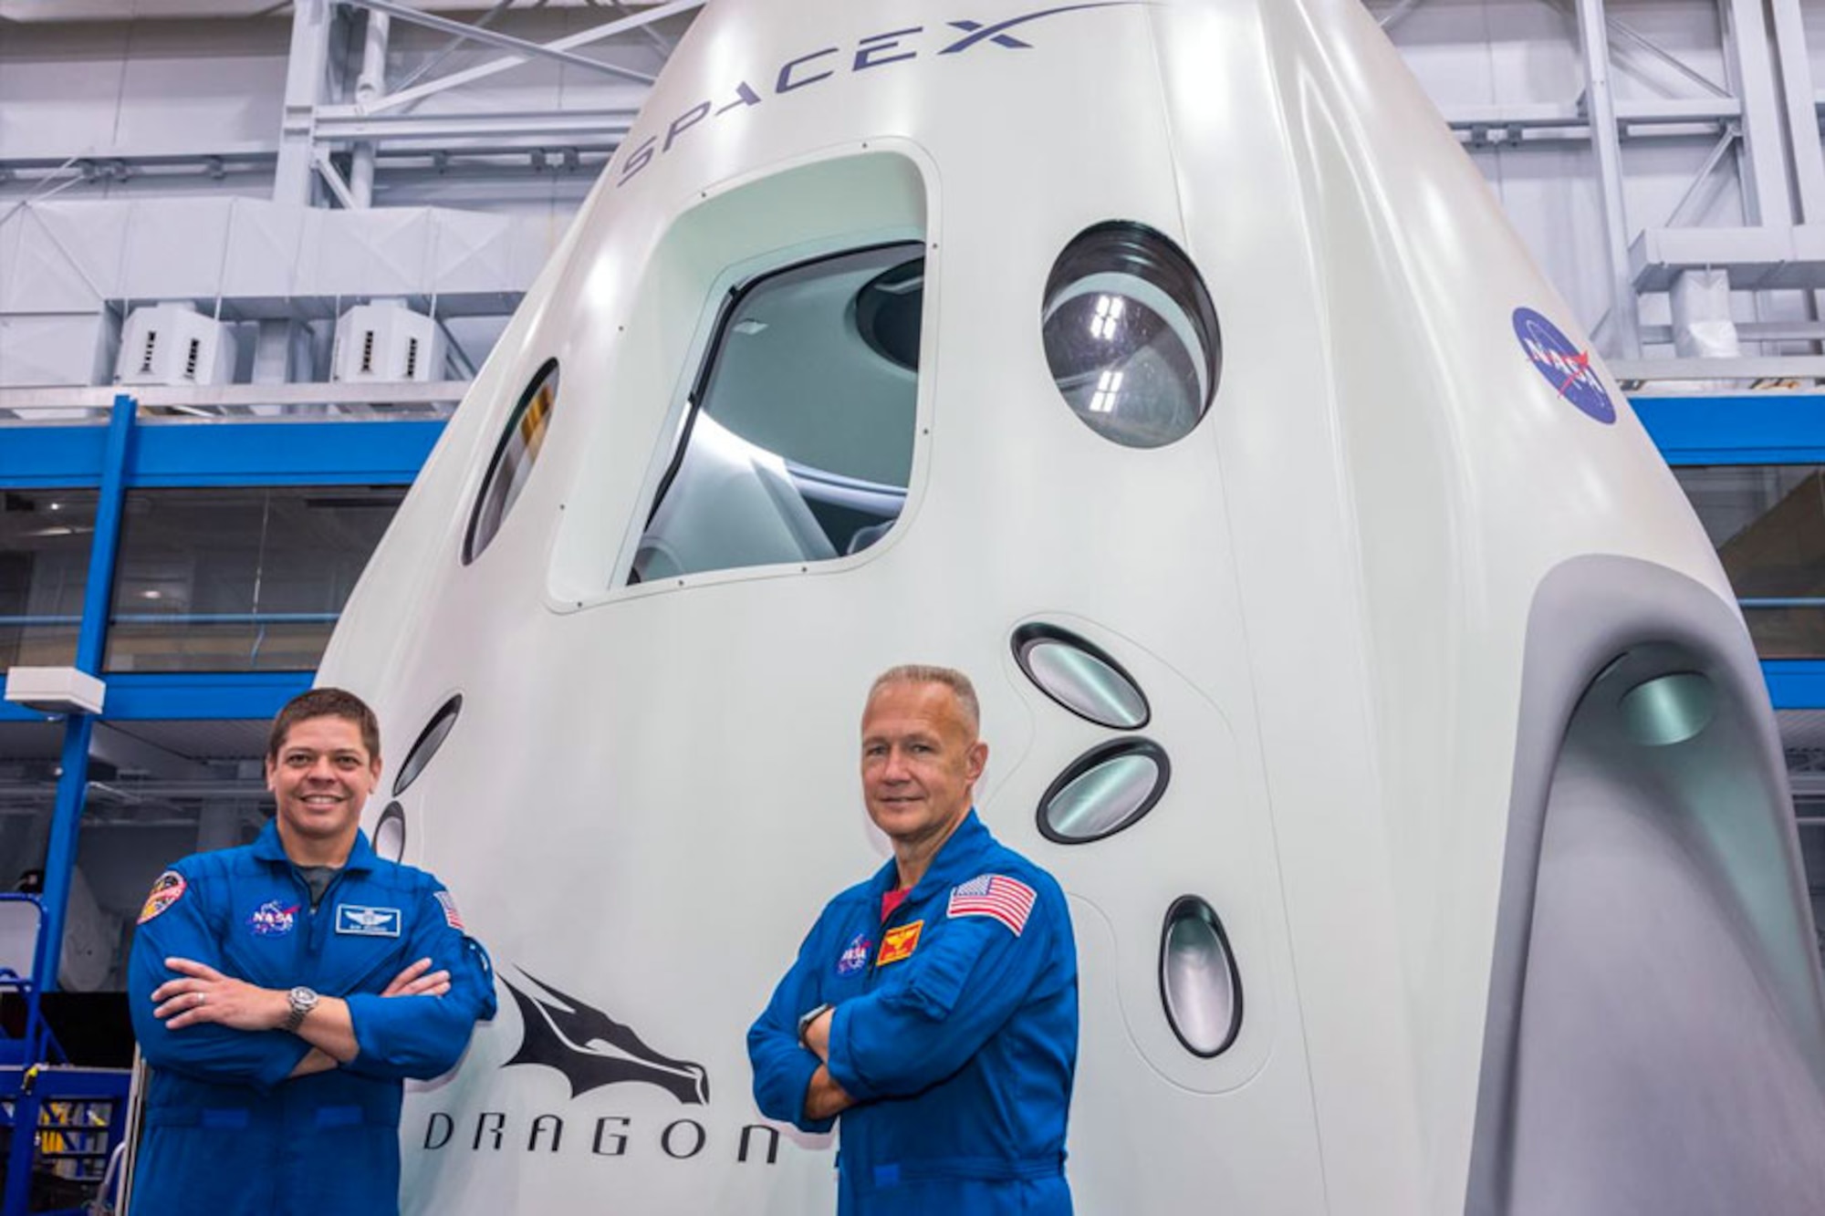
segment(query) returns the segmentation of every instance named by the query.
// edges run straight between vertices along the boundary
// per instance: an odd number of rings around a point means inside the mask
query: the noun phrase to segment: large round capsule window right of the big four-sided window
[[[1192,261],[1159,232],[1106,223],[1071,241],[1046,281],[1046,363],[1071,411],[1124,447],[1163,447],[1217,391],[1223,338]]]

